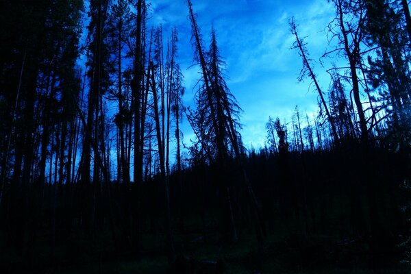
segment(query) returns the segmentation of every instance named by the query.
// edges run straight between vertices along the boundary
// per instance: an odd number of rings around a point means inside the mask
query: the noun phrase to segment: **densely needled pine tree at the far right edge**
[[[369,47],[375,47],[369,55],[367,75],[374,89],[379,89],[386,117],[389,118],[391,140],[406,143],[410,132],[410,95],[408,37],[401,26],[401,13],[395,3],[380,0],[366,3],[364,32]],[[388,107],[389,106],[389,107]],[[387,108],[388,107],[388,108]]]

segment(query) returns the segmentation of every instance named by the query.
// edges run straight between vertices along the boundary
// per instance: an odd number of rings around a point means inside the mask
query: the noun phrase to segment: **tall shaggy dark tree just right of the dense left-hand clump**
[[[87,117],[82,119],[84,138],[82,139],[81,184],[84,186],[82,213],[86,216],[84,226],[90,236],[97,233],[97,216],[101,212],[101,188],[108,186],[108,158],[105,137],[105,110],[103,95],[111,86],[110,51],[108,49],[108,6],[109,1],[90,1],[90,23],[88,25],[88,83]],[[79,115],[82,110],[78,110]],[[84,117],[83,117],[84,118]],[[93,156],[93,157],[92,157]],[[93,161],[92,161],[93,159]],[[92,166],[92,169],[91,169]],[[92,171],[92,179],[91,179]],[[113,216],[113,214],[111,214]],[[111,218],[111,230],[116,245],[115,228]]]

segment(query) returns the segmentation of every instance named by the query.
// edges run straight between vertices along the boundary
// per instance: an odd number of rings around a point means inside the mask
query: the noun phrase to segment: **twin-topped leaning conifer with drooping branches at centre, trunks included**
[[[204,149],[208,150],[208,158],[219,164],[221,168],[226,166],[230,156],[232,157],[232,155],[229,155],[229,149],[231,148],[234,152],[234,156],[238,162],[242,175],[242,187],[245,188],[246,191],[251,214],[253,216],[256,237],[261,251],[264,237],[262,231],[262,218],[258,208],[258,201],[242,164],[241,139],[237,130],[239,124],[238,121],[236,121],[236,116],[238,115],[240,108],[225,84],[221,71],[223,62],[219,56],[214,29],[212,29],[211,32],[210,50],[207,54],[209,58],[207,58],[207,55],[203,51],[201,34],[190,0],[188,0],[188,9],[192,26],[192,44],[195,48],[195,60],[199,62],[203,80],[203,85],[197,93],[197,112],[195,112],[195,118],[191,119],[191,123],[193,124],[193,121],[197,122],[194,130],[197,132],[197,137],[201,138],[199,140],[201,149],[203,149],[203,145],[206,145]],[[204,140],[203,137],[209,139]],[[216,155],[210,154],[212,151],[209,149],[210,146],[207,145],[207,142],[210,142],[212,147],[216,147]],[[230,220],[231,236],[234,240],[237,240],[238,236],[234,221],[234,212],[231,206],[229,185],[227,185],[229,184],[229,177],[225,173],[222,174],[222,185],[220,187],[222,187],[223,192],[227,192],[226,201],[227,208],[229,208],[229,216],[226,216],[227,218],[223,217],[223,219]]]

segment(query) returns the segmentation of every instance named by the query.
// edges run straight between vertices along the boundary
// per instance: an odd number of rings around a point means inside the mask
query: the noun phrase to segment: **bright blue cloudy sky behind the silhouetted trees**
[[[242,141],[247,148],[263,147],[266,140],[265,123],[269,116],[290,121],[295,106],[312,117],[318,110],[318,95],[310,79],[299,83],[302,68],[296,49],[291,49],[294,37],[288,22],[295,17],[299,35],[306,37],[310,57],[321,87],[327,90],[329,75],[325,72],[333,62],[319,58],[327,49],[327,24],[334,10],[327,0],[192,0],[197,23],[208,47],[210,29],[214,25],[221,56],[226,62],[227,86],[236,97],[243,112]],[[179,32],[178,62],[184,74],[186,95],[184,104],[194,107],[195,84],[201,77],[193,64],[193,47],[188,5],[184,0],[151,2],[150,24],[162,24],[164,36],[171,27]],[[187,121],[183,122],[184,142],[190,145],[194,134]]]

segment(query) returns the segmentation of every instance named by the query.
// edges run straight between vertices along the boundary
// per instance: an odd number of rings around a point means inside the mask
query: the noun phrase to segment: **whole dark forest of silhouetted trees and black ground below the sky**
[[[258,148],[184,2],[194,107],[149,1],[0,1],[0,273],[408,273],[409,1],[329,0],[323,56],[290,18],[318,112]]]

